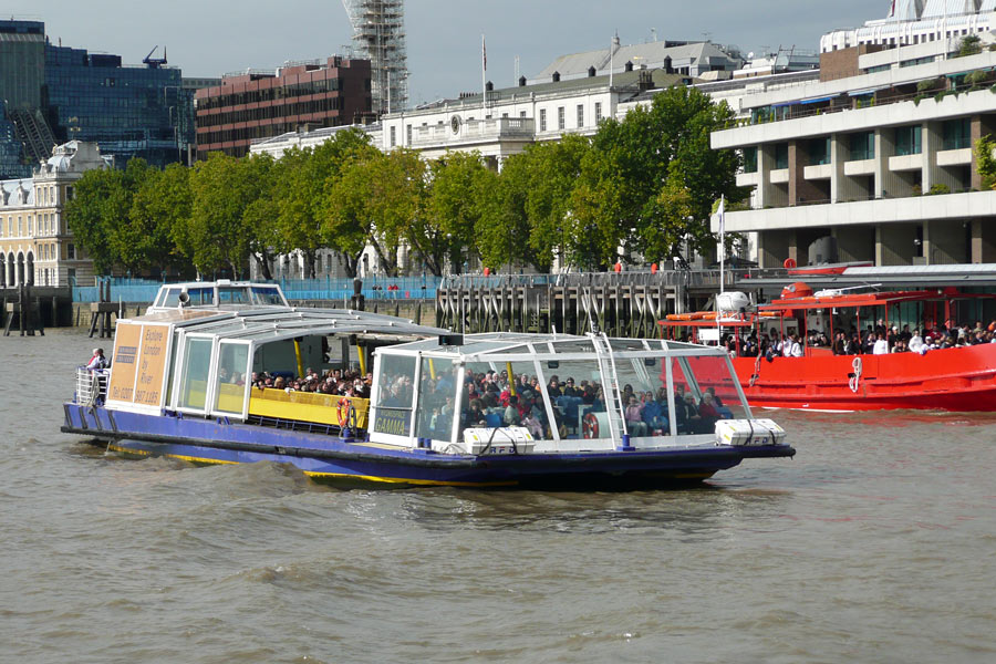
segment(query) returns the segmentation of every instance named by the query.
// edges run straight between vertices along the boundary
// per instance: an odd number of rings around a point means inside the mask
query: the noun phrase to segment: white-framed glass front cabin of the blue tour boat
[[[672,416],[686,394],[696,407],[723,395],[724,417],[750,417],[729,357],[719,349],[561,334],[443,341],[376,351],[371,440],[466,454],[500,454],[510,446],[520,453],[523,447],[587,452],[658,448],[698,436],[715,440],[715,422],[696,426]]]

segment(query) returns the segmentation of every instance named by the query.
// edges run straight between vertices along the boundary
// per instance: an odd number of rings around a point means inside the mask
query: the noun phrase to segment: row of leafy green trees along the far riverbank
[[[500,172],[476,153],[384,153],[359,129],[279,159],[212,154],[165,170],[133,159],[86,173],[66,218],[102,273],[240,274],[256,260],[269,277],[277,255],[297,251],[312,277],[325,248],[354,276],[370,245],[396,276],[402,243],[419,271],[437,276],[475,255],[492,268],[540,271],[558,257],[585,269],[661,260],[684,243],[715,247],[715,201],[744,197],[737,154],[709,147],[709,134],[732,121],[725,104],[675,86],[591,137],[530,145]]]

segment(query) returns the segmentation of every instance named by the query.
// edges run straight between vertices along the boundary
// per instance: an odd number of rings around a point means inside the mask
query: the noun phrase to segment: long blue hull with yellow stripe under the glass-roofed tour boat
[[[697,483],[745,458],[792,456],[788,445],[693,445],[653,450],[443,455],[257,425],[65,404],[64,433],[112,452],[195,464],[289,463],[320,481],[378,486],[595,488]]]

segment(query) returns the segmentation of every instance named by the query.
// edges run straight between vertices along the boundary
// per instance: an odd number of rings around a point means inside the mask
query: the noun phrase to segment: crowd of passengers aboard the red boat
[[[850,332],[838,331],[833,341],[824,332],[812,331],[805,341],[798,334],[780,334],[776,328],[758,338],[756,331],[741,335],[739,344],[733,334],[723,338],[723,345],[730,355],[740,357],[757,357],[758,355],[769,360],[778,356],[801,357],[805,347],[828,347],[834,355],[885,355],[889,353],[920,353],[925,354],[937,349],[953,349],[961,346],[978,345],[983,343],[996,343],[996,321],[988,326],[983,326],[977,321],[975,326],[964,325],[934,325],[910,329],[910,325],[892,325],[891,328],[880,320],[875,326],[869,325],[863,332],[851,328]]]

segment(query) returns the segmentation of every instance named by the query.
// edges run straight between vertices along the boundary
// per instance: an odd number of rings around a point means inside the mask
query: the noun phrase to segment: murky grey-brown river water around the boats
[[[776,412],[795,459],[692,490],[339,490],[59,433],[93,345],[0,338],[0,662],[996,661],[996,416]]]

